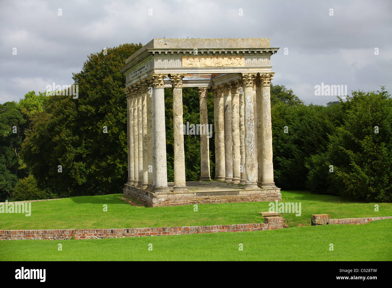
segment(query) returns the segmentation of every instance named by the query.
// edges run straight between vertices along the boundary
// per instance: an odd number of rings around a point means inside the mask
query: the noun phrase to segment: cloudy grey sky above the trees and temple
[[[270,38],[273,83],[306,103],[336,100],[314,95],[321,82],[392,92],[391,13],[390,0],[2,1],[0,103],[72,84],[103,47],[163,37]]]

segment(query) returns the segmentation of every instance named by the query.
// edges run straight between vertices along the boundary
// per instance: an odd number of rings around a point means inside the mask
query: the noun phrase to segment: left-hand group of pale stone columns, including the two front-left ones
[[[128,181],[127,184],[156,193],[167,187],[164,82],[167,74],[125,88],[127,95]],[[174,190],[187,191],[182,118],[182,78],[169,75],[173,87]]]

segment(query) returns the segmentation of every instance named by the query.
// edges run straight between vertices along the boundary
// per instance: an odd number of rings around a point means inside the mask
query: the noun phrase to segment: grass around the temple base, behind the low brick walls
[[[340,197],[303,191],[282,191],[282,201],[301,202],[301,216],[281,214],[289,227],[310,225],[312,214],[331,218],[392,216],[391,203],[343,201]],[[122,194],[81,196],[31,203],[31,216],[0,214],[0,229],[82,229],[137,228],[160,226],[227,225],[262,223],[257,212],[268,211],[269,202],[223,203],[155,207],[132,206],[120,199]],[[103,205],[107,212],[103,212]]]

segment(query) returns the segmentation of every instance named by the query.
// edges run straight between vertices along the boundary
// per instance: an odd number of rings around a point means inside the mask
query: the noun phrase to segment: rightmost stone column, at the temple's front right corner
[[[260,74],[261,81],[261,151],[259,159],[262,159],[262,179],[260,188],[275,188],[274,165],[272,164],[272,125],[271,125],[271,100],[270,85],[274,73]],[[260,116],[259,116],[260,118]],[[260,180],[259,180],[260,181]]]

